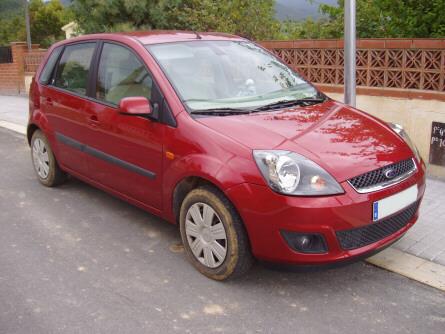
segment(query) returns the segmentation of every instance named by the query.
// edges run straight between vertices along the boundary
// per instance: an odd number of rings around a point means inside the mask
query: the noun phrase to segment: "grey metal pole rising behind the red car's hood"
[[[356,3],[345,0],[345,103],[356,105]]]

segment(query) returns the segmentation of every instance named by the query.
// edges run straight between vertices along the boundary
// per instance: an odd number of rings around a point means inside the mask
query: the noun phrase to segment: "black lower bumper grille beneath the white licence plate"
[[[351,250],[370,245],[396,233],[414,217],[419,202],[411,204],[400,213],[371,225],[348,231],[336,232],[341,248]]]

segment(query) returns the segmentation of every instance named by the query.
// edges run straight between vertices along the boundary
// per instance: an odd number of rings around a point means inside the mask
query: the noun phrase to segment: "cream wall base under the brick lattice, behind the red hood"
[[[343,101],[343,94],[328,95]],[[403,125],[428,165],[429,175],[445,180],[445,167],[429,164],[432,122],[445,123],[445,102],[358,95],[357,108],[384,121]]]

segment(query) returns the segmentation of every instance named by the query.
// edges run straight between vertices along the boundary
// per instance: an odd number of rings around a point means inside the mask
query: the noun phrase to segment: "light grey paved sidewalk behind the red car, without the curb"
[[[27,97],[0,96],[0,126],[21,132],[26,129],[27,121]],[[444,203],[445,182],[428,178],[418,222],[390,249],[445,266]]]

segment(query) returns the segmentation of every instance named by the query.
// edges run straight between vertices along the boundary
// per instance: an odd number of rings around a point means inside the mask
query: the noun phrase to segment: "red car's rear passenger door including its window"
[[[83,176],[88,175],[88,156],[83,152],[86,96],[96,45],[93,41],[65,46],[41,101],[55,133],[59,163]]]

